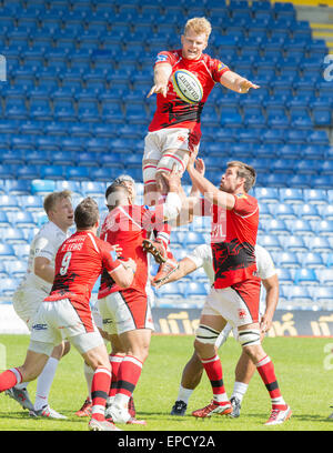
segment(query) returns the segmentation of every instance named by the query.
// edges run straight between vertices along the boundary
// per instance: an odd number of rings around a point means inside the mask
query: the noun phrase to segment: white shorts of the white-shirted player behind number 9
[[[36,288],[19,286],[12,296],[13,309],[18,316],[27,324],[31,332],[34,316],[42,301],[49,295],[46,291]]]

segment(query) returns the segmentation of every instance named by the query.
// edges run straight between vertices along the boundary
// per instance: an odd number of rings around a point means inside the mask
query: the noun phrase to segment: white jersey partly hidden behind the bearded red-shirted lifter
[[[209,244],[196,246],[186,258],[195,263],[196,269],[203,268],[210,284],[214,283],[214,269],[212,248]],[[258,275],[262,279],[270,279],[276,274],[276,270],[270,253],[261,245],[255,244],[255,259]],[[261,291],[261,303],[264,302],[265,291]]]

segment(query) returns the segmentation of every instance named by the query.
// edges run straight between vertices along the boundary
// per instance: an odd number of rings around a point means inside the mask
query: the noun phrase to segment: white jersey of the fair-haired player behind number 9
[[[43,256],[50,260],[51,266],[54,268],[54,259],[59,246],[69,236],[60,230],[53,222],[47,222],[42,225],[39,232],[33,238],[30,244],[30,252],[28,259],[27,274],[20,284],[20,289],[27,290],[42,290],[47,294],[51,291],[52,284],[36,275],[34,259]]]

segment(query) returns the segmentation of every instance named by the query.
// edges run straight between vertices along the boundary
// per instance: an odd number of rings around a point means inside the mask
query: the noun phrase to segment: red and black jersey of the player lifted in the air
[[[157,110],[149,125],[149,131],[153,132],[164,128],[185,128],[190,130],[191,139],[196,144],[201,138],[200,117],[203,105],[214,84],[220,82],[221,76],[229,71],[229,68],[222,61],[213,59],[206,53],[203,53],[198,60],[188,60],[182,57],[181,49],[160,52],[155,64],[161,63],[170,63],[172,73],[179,69],[185,69],[196,76],[202,84],[203,97],[195,104],[184,102],[174,91],[170,78],[167,98],[160,93],[157,94]]]

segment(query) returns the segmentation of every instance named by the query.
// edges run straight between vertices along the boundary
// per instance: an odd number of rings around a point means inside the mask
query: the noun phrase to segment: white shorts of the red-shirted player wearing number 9
[[[82,321],[69,299],[42,302],[31,329],[29,349],[50,355],[56,345],[68,339],[82,354],[104,344],[93,320],[89,321]]]

